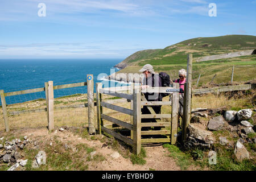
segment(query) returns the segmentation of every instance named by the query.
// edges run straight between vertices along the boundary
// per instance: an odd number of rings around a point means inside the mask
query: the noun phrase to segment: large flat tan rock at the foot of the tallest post
[[[190,137],[203,140],[205,143],[213,144],[214,137],[212,132],[200,129],[199,127],[188,125],[189,135]]]

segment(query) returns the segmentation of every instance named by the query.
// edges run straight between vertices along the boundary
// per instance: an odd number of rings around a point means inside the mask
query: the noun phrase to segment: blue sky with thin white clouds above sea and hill
[[[255,7],[256,0],[2,0],[0,59],[124,59],[191,38],[256,35]]]

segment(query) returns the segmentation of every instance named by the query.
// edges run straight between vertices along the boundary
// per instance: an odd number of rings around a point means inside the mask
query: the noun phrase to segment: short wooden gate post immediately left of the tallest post
[[[174,88],[179,89],[179,83],[174,82]],[[172,94],[172,126],[171,126],[171,144],[177,141],[177,126],[178,126],[178,111],[179,111],[179,92]]]

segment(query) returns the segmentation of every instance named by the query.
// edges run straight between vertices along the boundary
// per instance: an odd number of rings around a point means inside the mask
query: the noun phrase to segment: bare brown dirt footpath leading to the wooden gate
[[[102,161],[86,161],[86,154],[81,155],[81,160],[84,160],[86,164],[88,164],[88,170],[120,170],[120,171],[148,171],[148,170],[160,170],[160,171],[173,171],[180,170],[175,163],[175,159],[169,157],[169,152],[167,148],[163,148],[162,144],[152,145],[152,146],[143,146],[146,150],[146,164],[139,165],[133,164],[129,157],[124,158],[125,155],[118,155],[117,151],[113,150],[111,146],[108,146],[108,143],[102,142],[102,140],[91,139],[92,135],[88,135],[89,137],[82,138],[80,135],[73,133],[70,130],[59,131],[56,129],[55,131],[48,133],[46,128],[43,129],[22,129],[13,131],[9,134],[9,137],[13,134],[15,137],[26,136],[31,140],[38,140],[40,150],[44,150],[43,146],[46,146],[53,142],[52,147],[54,147],[53,138],[57,139],[59,142],[63,144],[68,144],[70,148],[73,146],[77,146],[77,144],[86,144],[86,146],[94,148],[96,152],[95,154],[104,156],[104,160]],[[5,133],[1,134],[1,137],[5,137]],[[104,135],[97,135],[97,138],[104,138]],[[63,149],[65,150],[65,149]],[[70,149],[72,152],[72,149]],[[113,154],[117,154],[114,156]],[[24,156],[26,159],[26,156]]]

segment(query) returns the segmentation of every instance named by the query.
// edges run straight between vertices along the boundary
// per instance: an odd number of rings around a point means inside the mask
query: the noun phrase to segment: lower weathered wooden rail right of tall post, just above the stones
[[[231,92],[236,90],[249,90],[254,88],[255,88],[255,85],[253,84],[219,86],[219,87],[213,87],[213,88],[195,89],[192,91],[192,94]]]

